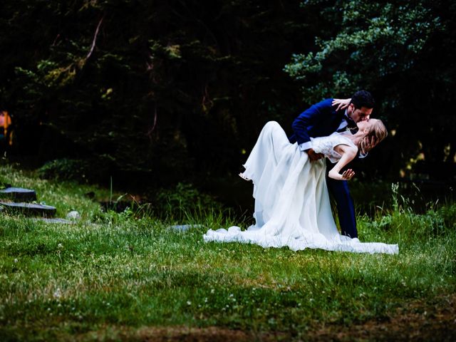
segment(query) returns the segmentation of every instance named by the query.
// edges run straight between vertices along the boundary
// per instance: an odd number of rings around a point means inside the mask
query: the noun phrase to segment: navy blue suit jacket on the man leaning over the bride
[[[297,141],[298,145],[301,145],[311,138],[326,137],[336,132],[345,110],[336,111],[336,106],[331,105],[332,102],[332,98],[327,98],[299,114],[291,125],[294,134],[289,137],[290,142]]]

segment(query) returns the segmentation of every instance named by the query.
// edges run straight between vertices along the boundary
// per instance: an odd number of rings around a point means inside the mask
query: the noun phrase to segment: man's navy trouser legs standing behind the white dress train
[[[326,184],[331,195],[336,199],[339,224],[341,224],[341,233],[352,239],[358,237],[356,230],[356,217],[353,199],[348,190],[346,180],[333,180],[326,177]]]

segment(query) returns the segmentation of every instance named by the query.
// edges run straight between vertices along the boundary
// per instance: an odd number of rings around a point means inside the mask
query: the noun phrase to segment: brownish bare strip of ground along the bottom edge
[[[104,339],[98,331],[96,339]],[[95,337],[92,334],[92,338]],[[79,336],[80,338],[82,336]],[[137,331],[118,331],[123,341],[456,341],[456,295],[432,301],[413,301],[385,321],[367,321],[353,326],[326,325],[309,328],[301,338],[286,331],[254,334],[216,326],[144,327]],[[84,339],[84,338],[83,338]]]

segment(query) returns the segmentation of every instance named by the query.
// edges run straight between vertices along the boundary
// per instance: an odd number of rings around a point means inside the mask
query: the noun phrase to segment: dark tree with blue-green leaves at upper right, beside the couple
[[[374,94],[373,115],[390,135],[361,167],[454,182],[455,1],[303,1],[311,9],[322,19],[316,47],[286,71],[308,102],[359,88]]]

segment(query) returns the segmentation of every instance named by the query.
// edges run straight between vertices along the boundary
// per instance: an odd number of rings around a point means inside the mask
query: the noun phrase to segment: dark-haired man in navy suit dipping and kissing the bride
[[[346,109],[336,109],[333,99],[328,98],[305,110],[293,122],[294,135],[289,137],[291,143],[298,142],[299,149],[309,155],[311,162],[324,156],[312,149],[311,138],[324,137],[347,128],[356,129],[356,123],[369,120],[375,101],[366,90],[353,94]],[[339,106],[340,108],[340,106]],[[367,142],[366,150],[370,150],[375,141]],[[366,150],[361,151],[360,157],[366,157]],[[341,233],[351,238],[358,237],[353,199],[348,190],[346,180],[333,180],[326,177],[328,190],[336,199]]]

